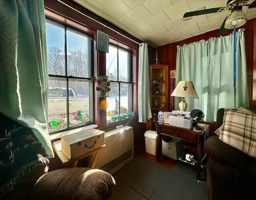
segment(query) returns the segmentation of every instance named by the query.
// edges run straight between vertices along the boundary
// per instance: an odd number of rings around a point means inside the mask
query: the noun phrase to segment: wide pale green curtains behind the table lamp
[[[186,98],[187,111],[200,109],[207,122],[216,121],[219,108],[249,107],[244,30],[236,34],[236,88],[233,34],[193,42],[177,48],[176,84],[192,81],[198,99]],[[175,98],[175,109],[180,98]]]

